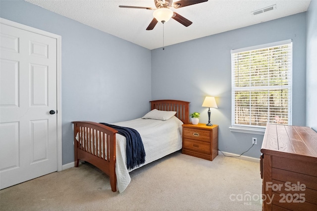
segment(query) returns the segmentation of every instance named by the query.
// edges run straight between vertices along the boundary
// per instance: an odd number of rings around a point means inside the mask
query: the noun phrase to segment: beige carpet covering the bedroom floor
[[[0,191],[0,211],[261,211],[259,163],[173,153],[130,173],[123,193],[85,163]],[[250,200],[251,198],[251,200]]]

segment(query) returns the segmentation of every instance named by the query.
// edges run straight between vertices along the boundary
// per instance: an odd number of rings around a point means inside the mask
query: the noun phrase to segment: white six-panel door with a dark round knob
[[[56,39],[2,23],[0,33],[3,189],[57,170]]]

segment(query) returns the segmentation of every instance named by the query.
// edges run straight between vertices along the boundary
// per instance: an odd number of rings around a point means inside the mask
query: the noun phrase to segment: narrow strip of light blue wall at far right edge
[[[307,126],[317,131],[317,0],[307,10]]]

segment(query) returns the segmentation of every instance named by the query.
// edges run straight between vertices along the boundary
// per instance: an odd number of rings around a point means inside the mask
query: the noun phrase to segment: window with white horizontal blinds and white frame
[[[292,41],[231,51],[232,127],[291,125]]]

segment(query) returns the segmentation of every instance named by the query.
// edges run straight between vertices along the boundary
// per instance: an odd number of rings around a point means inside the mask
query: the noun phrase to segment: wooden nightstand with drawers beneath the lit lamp
[[[212,161],[218,155],[218,126],[184,124],[182,153]]]

